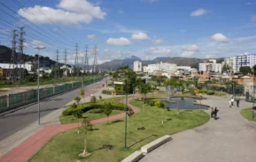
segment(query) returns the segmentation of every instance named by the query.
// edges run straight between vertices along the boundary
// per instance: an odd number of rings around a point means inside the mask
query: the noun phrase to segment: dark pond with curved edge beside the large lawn
[[[195,105],[194,103],[196,102],[195,99],[191,98],[165,98],[165,99],[160,99],[161,101],[165,102],[168,107],[172,109],[177,109],[179,106],[179,109],[207,109],[207,106],[203,105]],[[200,102],[198,102],[199,104]]]

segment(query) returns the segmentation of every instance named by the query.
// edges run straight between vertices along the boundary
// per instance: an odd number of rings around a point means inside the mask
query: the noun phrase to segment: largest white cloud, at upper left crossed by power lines
[[[100,7],[90,4],[87,0],[60,0],[57,6],[58,9],[53,9],[47,6],[35,5],[35,7],[19,9],[18,14],[33,23],[39,23],[39,20],[46,24],[52,24],[53,21],[62,25],[89,24],[94,18],[102,19],[106,15]],[[31,13],[35,17],[31,16]]]

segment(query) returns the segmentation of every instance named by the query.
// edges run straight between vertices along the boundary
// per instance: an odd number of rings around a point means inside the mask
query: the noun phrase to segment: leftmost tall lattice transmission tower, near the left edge
[[[16,60],[16,36],[18,35],[17,30],[13,30],[12,31],[12,55],[11,55],[11,61],[9,64],[9,79],[12,80],[12,83],[16,80],[16,72],[15,72],[15,68],[16,68],[16,64],[17,64],[17,60]]]

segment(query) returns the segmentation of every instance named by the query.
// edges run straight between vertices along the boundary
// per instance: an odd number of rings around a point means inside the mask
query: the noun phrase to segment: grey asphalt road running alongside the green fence
[[[102,81],[100,82],[102,83]],[[85,92],[89,92],[97,88],[97,84],[85,86]],[[40,102],[41,116],[50,114],[50,112],[65,107],[74,97],[79,95],[81,89],[72,92],[66,92],[50,99],[43,99]],[[20,109],[12,114],[6,114],[0,117],[0,141],[11,136],[15,132],[27,127],[27,125],[38,120],[37,104]]]

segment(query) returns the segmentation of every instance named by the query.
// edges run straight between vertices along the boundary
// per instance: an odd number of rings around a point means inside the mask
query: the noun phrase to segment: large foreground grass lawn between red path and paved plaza
[[[131,104],[143,107],[141,101],[132,100]],[[118,162],[144,144],[164,135],[172,135],[185,129],[192,129],[206,123],[210,117],[204,111],[198,110],[163,110],[145,106],[145,114],[141,112],[128,118],[128,151],[124,146],[124,119],[119,122],[101,123],[93,126],[88,133],[87,146],[91,155],[88,158],[79,158],[83,151],[84,134],[77,134],[77,129],[70,129],[54,136],[43,146],[29,162],[61,161],[61,162]],[[164,124],[161,124],[164,114]],[[138,129],[142,128],[144,129]],[[104,149],[103,145],[113,145],[112,150]]]

